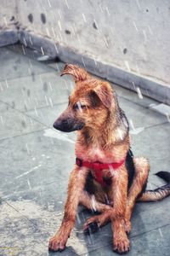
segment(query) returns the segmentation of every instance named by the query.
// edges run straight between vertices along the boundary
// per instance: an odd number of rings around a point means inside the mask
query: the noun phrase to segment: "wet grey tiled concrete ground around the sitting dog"
[[[19,45],[0,48],[0,255],[48,253],[59,228],[69,173],[75,162],[75,134],[52,125],[66,105],[73,82],[59,77],[63,63],[37,61],[36,51]],[[169,170],[169,116],[160,103],[114,85],[131,124],[135,155],[150,159],[148,188],[163,182],[155,172]],[[170,198],[138,203],[133,212],[128,255],[169,255]],[[90,212],[79,209],[77,224],[61,255],[112,255],[111,225],[85,236]]]

